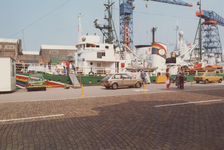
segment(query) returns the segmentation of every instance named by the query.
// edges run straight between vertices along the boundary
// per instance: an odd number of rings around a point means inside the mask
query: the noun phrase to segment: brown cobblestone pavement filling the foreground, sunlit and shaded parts
[[[222,89],[1,103],[0,149],[223,150],[223,108]]]

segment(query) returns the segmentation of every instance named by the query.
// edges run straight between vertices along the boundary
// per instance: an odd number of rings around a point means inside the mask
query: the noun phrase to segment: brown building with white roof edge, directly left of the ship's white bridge
[[[62,46],[62,45],[41,45],[40,56],[45,64],[62,63],[68,60],[68,55],[77,52],[75,46]]]

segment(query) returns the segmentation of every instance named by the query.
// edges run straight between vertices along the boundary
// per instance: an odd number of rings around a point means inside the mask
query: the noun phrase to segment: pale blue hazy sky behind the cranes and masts
[[[119,35],[119,0],[113,7],[113,19]],[[193,43],[199,18],[197,1],[184,0],[193,7],[185,7],[153,1],[135,0],[133,14],[134,45],[152,42],[152,27],[157,27],[155,39],[165,43],[172,51],[176,43],[176,25],[184,31],[184,39]],[[202,10],[212,10],[224,17],[224,0],[201,0]],[[75,46],[78,41],[78,14],[82,15],[83,33],[101,32],[94,27],[98,18],[105,23],[107,0],[0,0],[0,38],[22,39],[23,51],[39,51],[41,45]],[[148,7],[146,8],[146,4]],[[202,20],[203,21],[203,20]],[[148,32],[147,32],[148,31]],[[219,26],[224,45],[224,27]]]

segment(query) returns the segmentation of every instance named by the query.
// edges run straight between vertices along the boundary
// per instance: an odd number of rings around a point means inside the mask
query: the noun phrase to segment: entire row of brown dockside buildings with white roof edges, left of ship
[[[77,52],[75,46],[41,45],[40,51],[23,51],[21,39],[0,38],[0,57],[11,57],[24,63],[62,63]]]

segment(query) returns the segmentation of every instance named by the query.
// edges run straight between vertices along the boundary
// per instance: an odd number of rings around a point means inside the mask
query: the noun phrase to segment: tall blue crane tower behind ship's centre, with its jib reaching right
[[[135,8],[134,0],[119,0],[120,3],[120,43],[129,48],[133,48],[133,10]],[[192,7],[192,4],[182,0],[145,0],[155,1],[174,5]]]

